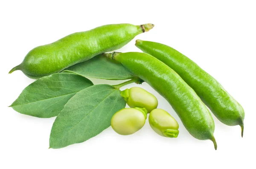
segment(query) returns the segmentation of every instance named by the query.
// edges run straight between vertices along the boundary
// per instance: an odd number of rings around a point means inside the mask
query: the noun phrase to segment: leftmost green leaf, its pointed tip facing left
[[[10,107],[26,115],[54,117],[72,96],[92,85],[89,79],[73,73],[44,76],[27,86]]]

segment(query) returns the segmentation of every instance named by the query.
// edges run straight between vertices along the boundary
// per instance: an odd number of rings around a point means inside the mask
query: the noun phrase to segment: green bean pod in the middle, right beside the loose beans
[[[215,129],[212,116],[195,91],[169,66],[155,57],[139,52],[105,54],[124,65],[131,73],[157,90],[179,115],[189,133],[200,140],[211,140]]]

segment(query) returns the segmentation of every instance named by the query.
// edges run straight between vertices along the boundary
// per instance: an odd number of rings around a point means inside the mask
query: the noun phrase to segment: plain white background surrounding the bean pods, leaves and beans
[[[253,0],[1,1],[0,168],[255,168],[255,9]],[[151,31],[119,51],[140,51],[134,43],[143,39],[172,46],[191,58],[244,107],[244,138],[239,126],[226,126],[213,116],[215,151],[211,141],[189,135],[168,102],[143,83],[122,89],[140,86],[157,96],[159,108],[179,122],[178,138],[157,135],[147,121],[134,135],[118,135],[109,127],[84,143],[48,149],[55,118],[30,117],[8,107],[34,81],[20,71],[8,74],[9,70],[38,45],[112,23],[154,23]]]

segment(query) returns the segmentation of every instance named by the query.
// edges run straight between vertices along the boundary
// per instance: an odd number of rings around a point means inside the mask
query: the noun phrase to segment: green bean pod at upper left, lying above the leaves
[[[70,34],[56,42],[32,49],[23,62],[9,73],[21,70],[32,79],[58,73],[98,54],[122,48],[136,35],[153,27],[153,24],[113,24]]]

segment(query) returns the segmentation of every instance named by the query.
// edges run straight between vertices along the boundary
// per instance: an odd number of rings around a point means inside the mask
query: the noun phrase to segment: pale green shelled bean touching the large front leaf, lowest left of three
[[[111,127],[120,135],[130,135],[144,126],[146,118],[145,108],[124,108],[113,115]]]

